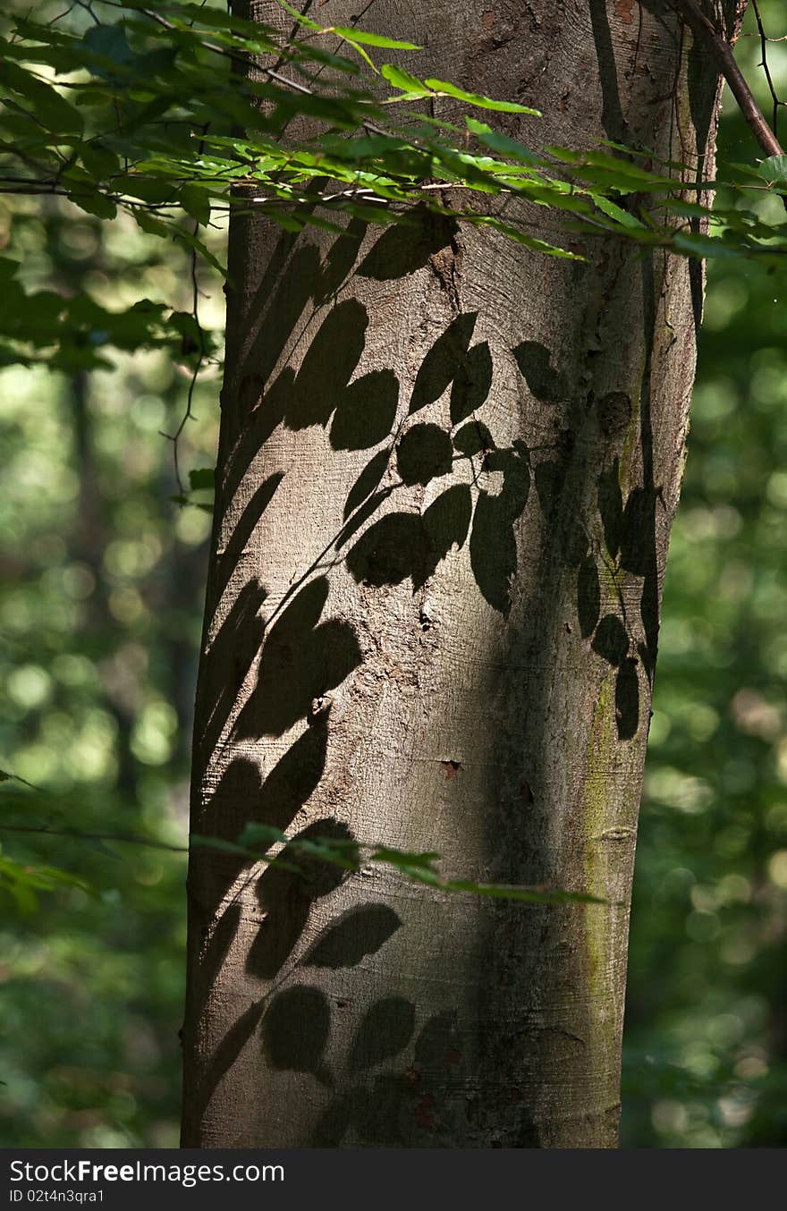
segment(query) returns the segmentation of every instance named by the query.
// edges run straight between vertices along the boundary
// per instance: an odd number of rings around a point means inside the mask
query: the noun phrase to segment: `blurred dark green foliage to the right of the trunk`
[[[770,34],[787,33],[777,0],[760,11]],[[770,116],[757,39],[739,59]],[[768,62],[787,98],[787,44],[770,44]],[[787,109],[780,122],[783,140]],[[753,154],[726,94],[719,159]],[[625,1039],[624,1146],[787,1144],[787,282],[752,264],[710,268]]]

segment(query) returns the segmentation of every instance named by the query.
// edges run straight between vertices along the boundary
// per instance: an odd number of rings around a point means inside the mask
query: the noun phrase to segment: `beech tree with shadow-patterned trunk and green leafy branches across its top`
[[[2,180],[208,259],[230,211],[183,1142],[614,1147],[702,258],[783,258],[710,210],[722,71],[787,183],[745,5],[121,7],[17,22]],[[6,285],[19,357],[212,352],[196,279]]]

